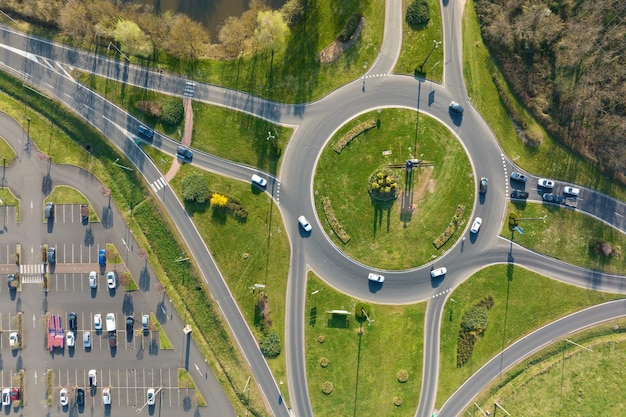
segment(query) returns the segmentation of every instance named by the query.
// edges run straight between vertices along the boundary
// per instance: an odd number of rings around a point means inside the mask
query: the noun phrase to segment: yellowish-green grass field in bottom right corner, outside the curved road
[[[498,401],[514,416],[624,415],[624,328],[626,320],[620,319],[568,337],[591,351],[565,340],[550,345],[494,382],[477,404],[491,410]]]

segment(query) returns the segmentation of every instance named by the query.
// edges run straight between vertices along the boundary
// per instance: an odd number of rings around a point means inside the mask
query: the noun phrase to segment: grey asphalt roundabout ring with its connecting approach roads
[[[287,225],[292,243],[292,268],[289,276],[289,293],[286,317],[286,354],[289,369],[289,389],[293,409],[298,416],[312,415],[308,400],[304,366],[304,311],[306,297],[305,280],[307,267],[314,269],[331,285],[354,297],[374,302],[409,303],[429,300],[426,323],[425,366],[422,398],[417,414],[430,414],[434,405],[438,364],[438,328],[441,306],[446,295],[476,270],[493,263],[514,263],[564,282],[572,282],[587,288],[604,289],[623,293],[620,277],[585,271],[565,265],[558,260],[543,257],[511,245],[498,237],[503,221],[507,197],[511,185],[508,175],[514,164],[503,155],[498,143],[482,117],[473,109],[466,97],[461,68],[461,15],[457,2],[444,2],[442,8],[444,28],[444,83],[434,84],[428,80],[408,76],[389,75],[395,63],[401,42],[401,2],[387,2],[386,27],[383,48],[379,58],[368,69],[366,78],[359,78],[324,98],[305,105],[281,105],[267,102],[248,94],[204,84],[196,84],[194,99],[249,112],[266,119],[289,125],[297,125],[294,136],[285,150],[284,163],[278,177],[281,180],[280,210]],[[46,94],[57,97],[86,120],[100,129],[113,143],[122,149],[133,165],[150,183],[160,174],[132,141],[137,121],[117,107],[106,102],[68,75],[71,68],[81,68],[127,83],[141,85],[170,94],[182,95],[188,80],[138,68],[124,62],[109,60],[92,53],[73,51],[66,47],[49,44],[36,39],[25,40],[22,35],[3,32],[4,45],[0,60],[13,68],[14,73],[29,74],[29,84],[37,85]],[[26,58],[20,51],[27,51]],[[37,54],[37,56],[29,55]],[[369,77],[370,75],[385,75]],[[450,100],[466,109],[462,118],[454,117],[448,110]],[[380,291],[373,293],[366,283],[370,268],[347,259],[321,232],[319,219],[313,210],[312,178],[317,157],[326,141],[346,120],[370,109],[380,107],[407,107],[417,109],[438,119],[458,135],[465,146],[474,168],[475,176],[490,179],[489,192],[484,199],[477,199],[473,216],[485,220],[478,239],[468,240],[463,248],[456,245],[433,264],[402,272],[386,272],[387,279]],[[174,153],[176,143],[159,135],[155,145]],[[312,157],[313,156],[313,157]],[[255,169],[231,164],[218,158],[194,153],[194,164],[233,178],[248,180]],[[270,178],[270,193],[276,179]],[[519,185],[516,185],[518,187]],[[557,187],[561,187],[559,183]],[[527,190],[536,188],[536,178],[526,184]],[[540,199],[540,191],[531,193]],[[257,383],[261,386],[275,415],[285,415],[284,404],[276,383],[271,379],[267,365],[258,352],[228,288],[210,259],[208,249],[184,213],[169,187],[158,192],[159,198],[172,215],[173,221],[185,236],[211,291],[219,300],[246,358],[251,362]],[[624,230],[624,203],[608,196],[583,189],[579,209]],[[296,217],[306,215],[313,221],[313,233],[303,238]],[[445,265],[448,275],[443,281],[433,282],[430,268]],[[585,313],[583,313],[585,314]],[[590,313],[589,313],[590,314]],[[455,397],[456,398],[456,397]],[[453,415],[453,414],[451,414]]]

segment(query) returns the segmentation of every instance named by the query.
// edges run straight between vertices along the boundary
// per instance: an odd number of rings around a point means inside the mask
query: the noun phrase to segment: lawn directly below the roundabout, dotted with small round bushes
[[[367,304],[372,321],[355,317],[358,300],[333,290],[309,272],[305,306],[306,368],[313,412],[332,416],[413,416],[422,383],[426,303]],[[346,310],[348,316],[327,311]],[[362,334],[359,334],[362,329]],[[320,337],[324,338],[320,343]],[[326,368],[320,366],[328,359]],[[408,380],[398,382],[398,371]],[[332,393],[322,392],[330,381]],[[394,405],[400,398],[402,405]]]

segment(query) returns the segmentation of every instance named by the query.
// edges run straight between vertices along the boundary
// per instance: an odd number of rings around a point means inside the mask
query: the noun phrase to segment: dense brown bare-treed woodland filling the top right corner
[[[626,183],[626,2],[475,0],[520,101],[564,145]]]

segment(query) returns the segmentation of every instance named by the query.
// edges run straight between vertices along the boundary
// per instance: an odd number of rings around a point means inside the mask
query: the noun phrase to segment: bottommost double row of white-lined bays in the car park
[[[90,378],[90,372],[93,371],[95,373]],[[97,381],[95,386],[90,385],[93,375]],[[137,409],[155,403],[161,407],[180,407],[189,394],[184,387],[178,387],[176,368],[57,370],[53,386],[53,401],[61,407],[64,407],[61,403],[62,390],[65,390],[68,406],[79,405],[79,388],[85,394],[84,405],[94,408],[111,406]]]

